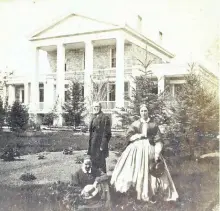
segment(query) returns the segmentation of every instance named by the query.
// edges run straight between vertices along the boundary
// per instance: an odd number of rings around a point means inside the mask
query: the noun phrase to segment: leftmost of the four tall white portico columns
[[[37,114],[39,106],[39,48],[35,50],[35,70],[31,80],[31,113]]]

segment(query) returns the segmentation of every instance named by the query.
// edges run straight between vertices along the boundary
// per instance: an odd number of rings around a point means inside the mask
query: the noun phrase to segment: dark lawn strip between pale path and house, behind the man
[[[6,145],[19,149],[21,155],[36,154],[39,152],[59,152],[71,147],[73,150],[88,148],[88,134],[77,134],[72,131],[39,133],[37,136],[17,136],[14,133],[0,133],[0,153]],[[110,140],[111,150],[119,149],[125,144],[124,137],[114,136]]]

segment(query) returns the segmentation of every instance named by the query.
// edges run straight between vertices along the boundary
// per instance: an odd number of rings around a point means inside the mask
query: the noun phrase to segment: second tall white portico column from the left
[[[64,102],[64,84],[65,84],[65,46],[57,45],[57,74],[56,74],[56,100],[58,118],[57,126],[62,126],[62,105]]]

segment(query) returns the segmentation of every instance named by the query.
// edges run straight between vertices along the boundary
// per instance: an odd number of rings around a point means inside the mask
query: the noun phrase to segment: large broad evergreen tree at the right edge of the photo
[[[199,144],[198,135],[218,131],[217,93],[209,88],[196,73],[195,64],[192,64],[173,105],[169,105],[171,118],[168,134],[181,138],[182,144],[189,146],[192,157]]]

